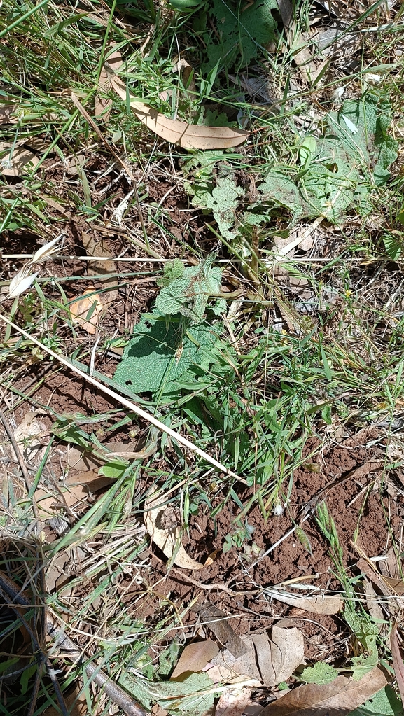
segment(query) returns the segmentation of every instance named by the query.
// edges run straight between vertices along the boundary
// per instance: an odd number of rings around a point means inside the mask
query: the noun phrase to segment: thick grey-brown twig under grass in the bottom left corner
[[[4,589],[6,594],[8,594],[14,603],[31,606],[27,595],[24,594],[24,592],[21,592],[18,585],[1,571],[0,587],[1,589]],[[64,634],[61,627],[59,627],[57,622],[52,619],[52,616],[49,616],[49,614],[47,614],[47,633],[54,639],[57,648],[63,649],[64,656],[69,657],[72,662],[82,663],[82,652],[79,647],[72,642],[72,639],[69,639],[69,637]],[[97,686],[102,687],[105,694],[109,696],[123,712],[125,712],[126,716],[145,716],[145,710],[138,703],[136,703],[133,698],[122,689],[122,687],[118,686],[118,684],[116,684],[108,674],[102,671],[102,669],[99,669],[95,662],[90,661],[83,665],[85,667],[87,677],[92,679]]]

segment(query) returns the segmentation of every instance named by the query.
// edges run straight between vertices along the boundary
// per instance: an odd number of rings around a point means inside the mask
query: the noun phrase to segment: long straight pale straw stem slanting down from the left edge
[[[93,378],[91,375],[87,375],[85,372],[80,370],[80,368],[75,367],[72,363],[70,363],[66,358],[58,355],[57,353],[54,353],[50,348],[47,346],[44,346],[40,341],[38,341],[36,338],[31,336],[27,331],[24,331],[24,329],[20,328],[19,326],[16,326],[10,319],[6,318],[6,316],[2,316],[0,314],[0,319],[6,323],[8,326],[11,326],[15,331],[20,333],[22,336],[27,338],[29,341],[37,345],[42,351],[47,353],[48,355],[52,356],[55,360],[57,360],[59,363],[62,363],[65,365],[69,370],[72,370],[75,374],[80,375],[82,379],[87,381],[87,383],[91,383],[94,385],[98,390],[105,393],[105,395],[109,395],[109,397],[113,398],[113,400],[116,400],[117,402],[120,402],[121,405],[125,405],[125,407],[129,408],[132,412],[135,412],[136,415],[139,415],[139,417],[143,417],[143,420],[146,420],[147,422],[150,422],[150,425],[155,425],[155,427],[160,430],[160,432],[165,432],[167,435],[170,435],[170,437],[173,437],[173,440],[178,442],[179,445],[182,445],[183,448],[188,448],[188,450],[191,450],[192,453],[196,453],[196,455],[199,455],[200,458],[203,460],[206,460],[207,463],[210,463],[213,465],[217,470],[222,470],[223,473],[226,473],[226,475],[229,475],[231,478],[236,478],[236,480],[239,480],[239,482],[243,483],[244,485],[248,485],[246,480],[244,478],[241,478],[239,475],[234,473],[232,470],[229,470],[229,468],[226,468],[225,465],[222,463],[219,463],[218,460],[215,460],[215,458],[212,458],[211,455],[208,455],[208,453],[205,453],[204,450],[201,450],[200,448],[197,448],[196,445],[191,442],[191,440],[187,440],[186,437],[183,437],[179,432],[176,432],[175,430],[171,430],[170,427],[167,425],[164,425],[163,422],[160,422],[160,420],[157,420],[154,415],[151,415],[150,412],[147,412],[146,410],[143,410],[141,407],[136,405],[134,402],[131,402],[130,400],[127,400],[126,398],[122,397],[122,395],[119,395],[119,393],[116,393],[115,390],[111,390],[110,388],[107,388],[107,386],[100,383],[100,381]]]

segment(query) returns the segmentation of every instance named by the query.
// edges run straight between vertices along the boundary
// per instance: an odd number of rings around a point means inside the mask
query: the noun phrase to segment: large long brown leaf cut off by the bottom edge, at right
[[[272,702],[260,716],[347,716],[388,683],[375,667],[360,681],[339,676],[330,684],[305,684]]]

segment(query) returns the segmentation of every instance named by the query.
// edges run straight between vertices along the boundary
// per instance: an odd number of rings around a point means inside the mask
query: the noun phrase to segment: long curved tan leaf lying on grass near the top
[[[105,64],[112,89],[126,101],[126,87]],[[178,144],[186,149],[226,149],[245,142],[248,132],[233,130],[231,127],[199,127],[181,120],[169,120],[144,102],[130,100],[130,107],[140,122],[162,137],[166,142]]]

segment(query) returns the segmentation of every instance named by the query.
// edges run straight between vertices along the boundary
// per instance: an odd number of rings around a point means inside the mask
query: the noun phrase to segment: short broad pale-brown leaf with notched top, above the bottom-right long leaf
[[[286,681],[300,664],[304,664],[304,638],[296,627],[272,627],[270,640],[264,633],[254,635],[253,642],[259,671],[266,687],[274,687]]]

